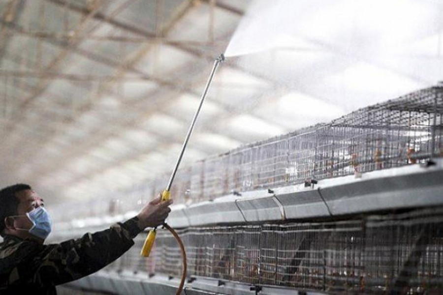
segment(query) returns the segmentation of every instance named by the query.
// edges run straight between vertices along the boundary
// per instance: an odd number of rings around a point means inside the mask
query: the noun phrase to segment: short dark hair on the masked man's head
[[[20,201],[15,194],[27,189],[31,189],[31,186],[17,183],[0,190],[0,236],[3,236],[5,228],[4,219],[8,216],[17,215],[17,206]]]

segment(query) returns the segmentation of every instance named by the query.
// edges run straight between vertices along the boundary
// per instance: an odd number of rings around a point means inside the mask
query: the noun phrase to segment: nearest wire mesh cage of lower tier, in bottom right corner
[[[424,212],[368,221],[363,257],[366,291],[441,292],[442,210],[420,213]]]

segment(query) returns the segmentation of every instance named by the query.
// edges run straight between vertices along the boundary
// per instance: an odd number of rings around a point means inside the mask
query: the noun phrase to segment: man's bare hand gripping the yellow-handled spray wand
[[[161,194],[157,198],[149,202],[140,213],[138,213],[138,227],[144,230],[147,227],[156,227],[164,223],[166,217],[168,217],[172,204],[172,200],[161,202]]]

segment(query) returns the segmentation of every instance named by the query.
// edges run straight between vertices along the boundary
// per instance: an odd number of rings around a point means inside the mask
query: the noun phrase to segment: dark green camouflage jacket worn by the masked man
[[[0,295],[57,294],[56,285],[110,264],[133,244],[137,217],[60,244],[42,245],[16,236],[0,243]]]

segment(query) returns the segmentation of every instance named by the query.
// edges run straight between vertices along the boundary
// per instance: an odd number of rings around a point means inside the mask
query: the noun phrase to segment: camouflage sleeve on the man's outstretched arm
[[[47,245],[34,260],[38,264],[34,283],[60,285],[107,266],[134,244],[132,239],[140,232],[137,221],[133,217],[101,232]]]

